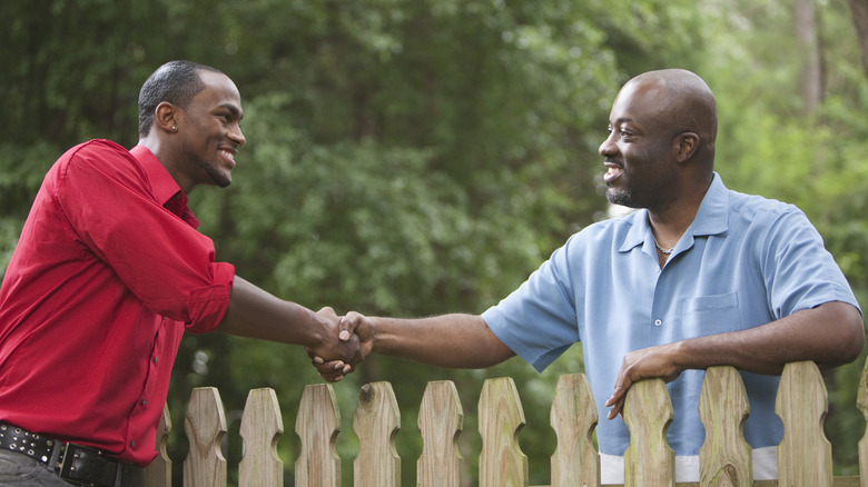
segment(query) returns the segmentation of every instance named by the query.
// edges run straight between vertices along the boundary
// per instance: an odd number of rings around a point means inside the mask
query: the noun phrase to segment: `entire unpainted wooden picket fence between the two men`
[[[868,369],[866,369],[868,370]],[[857,407],[868,418],[866,371],[859,385]],[[558,446],[551,458],[551,486],[600,486],[600,459],[591,435],[596,409],[582,374],[560,377],[551,409],[551,426]],[[699,411],[706,425],[706,443],[700,449],[700,483],[674,481],[674,453],[665,441],[672,420],[672,405],[661,379],[633,385],[624,405],[624,421],[632,443],[624,455],[624,486],[803,486],[868,487],[868,444],[859,441],[860,476],[834,477],[831,445],[823,434],[828,395],[813,362],[788,364],[781,376],[776,413],[785,435],[778,447],[779,480],[751,480],[751,449],[741,434],[748,416],[748,400],[741,376],[732,367],[709,368]],[[527,486],[527,458],[517,433],[524,413],[511,378],[487,379],[479,400],[480,487]],[[418,414],[424,440],[417,461],[417,486],[460,487],[466,461],[456,440],[464,414],[451,381],[427,384]],[[295,461],[297,487],[341,485],[341,458],[335,439],[339,410],[331,385],[306,386],[295,431],[302,451]],[[401,413],[388,382],[362,387],[353,429],[359,451],[353,464],[354,487],[398,487],[401,458],[394,446]],[[157,459],[146,470],[147,487],[170,487],[171,461],[166,455],[170,434],[168,409],[158,433]],[[220,443],[227,426],[220,397],[215,388],[193,391],[185,419],[189,454],[184,461],[184,487],[225,487],[227,465]],[[272,389],[249,392],[241,418],[240,436],[245,455],[238,466],[239,487],[284,485],[284,467],[276,444],[283,435],[277,396]]]

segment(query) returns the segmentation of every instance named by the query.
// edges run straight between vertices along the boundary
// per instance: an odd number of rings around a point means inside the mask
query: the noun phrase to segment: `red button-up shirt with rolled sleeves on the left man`
[[[217,327],[235,276],[197,225],[148,149],[67,151],[0,287],[0,419],[149,464],[181,335]]]

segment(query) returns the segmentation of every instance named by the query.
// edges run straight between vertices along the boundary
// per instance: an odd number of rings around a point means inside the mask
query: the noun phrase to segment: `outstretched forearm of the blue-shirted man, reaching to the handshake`
[[[373,351],[450,368],[485,368],[514,356],[480,316],[371,317]]]

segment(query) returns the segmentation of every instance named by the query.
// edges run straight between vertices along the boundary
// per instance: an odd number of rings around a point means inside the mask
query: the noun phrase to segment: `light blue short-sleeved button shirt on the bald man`
[[[693,223],[665,267],[658,262],[648,211],[594,223],[573,235],[519,289],[483,314],[494,334],[543,370],[582,344],[600,424],[601,454],[623,455],[630,434],[603,406],[628,351],[742,330],[828,301],[858,307],[822,239],[792,205],[728,190],[714,173]],[[702,370],[668,385],[677,456],[697,455]],[[750,400],[744,437],[778,445],[778,377],[741,374]]]

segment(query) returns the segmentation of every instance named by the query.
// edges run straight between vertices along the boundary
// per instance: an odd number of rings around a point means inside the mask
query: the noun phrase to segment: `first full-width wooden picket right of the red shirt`
[[[220,441],[226,435],[226,415],[215,387],[193,389],[184,421],[190,449],[184,460],[185,487],[226,485],[226,459]]]

